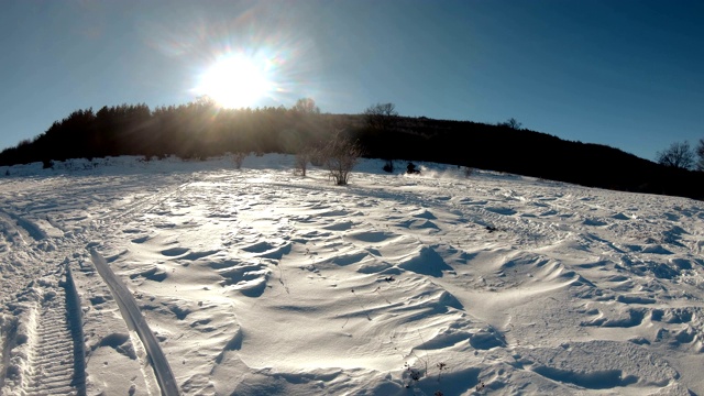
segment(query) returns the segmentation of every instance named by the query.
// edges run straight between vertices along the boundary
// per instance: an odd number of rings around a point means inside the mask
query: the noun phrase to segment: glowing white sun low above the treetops
[[[243,55],[220,59],[200,76],[196,91],[212,98],[220,107],[245,108],[272,90],[266,65]]]

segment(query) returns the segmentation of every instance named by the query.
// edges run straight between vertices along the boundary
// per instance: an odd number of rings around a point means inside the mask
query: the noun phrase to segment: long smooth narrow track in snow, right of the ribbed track
[[[118,305],[120,306],[120,311],[122,312],[124,321],[127,321],[128,326],[134,329],[138,336],[140,336],[140,340],[142,340],[144,349],[148,355],[148,360],[154,369],[154,374],[158,382],[158,386],[162,389],[162,395],[178,395],[179,392],[174,373],[168,365],[168,361],[166,360],[158,341],[156,341],[154,333],[144,320],[134,297],[132,297],[132,294],[128,290],[124,284],[116,277],[105,257],[102,257],[95,249],[90,250],[90,258],[96,265],[96,270],[98,270],[102,279],[110,287],[116,301],[118,301]]]

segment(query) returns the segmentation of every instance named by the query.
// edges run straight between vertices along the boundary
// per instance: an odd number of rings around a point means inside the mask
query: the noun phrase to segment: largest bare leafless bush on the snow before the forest
[[[342,130],[336,131],[330,142],[320,152],[323,165],[338,186],[348,184],[350,173],[361,155],[360,145],[352,142]]]

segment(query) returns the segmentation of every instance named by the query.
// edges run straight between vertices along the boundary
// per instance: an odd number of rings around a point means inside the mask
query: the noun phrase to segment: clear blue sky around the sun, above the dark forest
[[[0,148],[77,109],[196,97],[227,52],[324,112],[495,123],[652,160],[704,138],[704,1],[348,0],[0,3]]]

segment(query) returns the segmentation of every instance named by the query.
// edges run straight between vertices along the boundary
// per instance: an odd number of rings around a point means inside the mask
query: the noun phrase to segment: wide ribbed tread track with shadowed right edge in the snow
[[[44,283],[48,286],[48,283]],[[53,287],[52,287],[53,286]],[[28,342],[24,395],[85,395],[85,349],[80,305],[70,274],[42,288]]]

